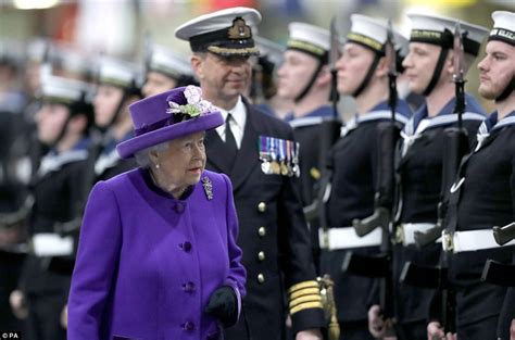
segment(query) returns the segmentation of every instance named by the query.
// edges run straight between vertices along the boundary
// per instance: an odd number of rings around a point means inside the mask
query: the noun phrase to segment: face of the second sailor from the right
[[[429,85],[437,66],[441,47],[424,42],[410,42],[410,52],[402,62],[410,90],[423,93]],[[440,77],[440,80],[442,77]],[[437,83],[438,86],[438,83]]]

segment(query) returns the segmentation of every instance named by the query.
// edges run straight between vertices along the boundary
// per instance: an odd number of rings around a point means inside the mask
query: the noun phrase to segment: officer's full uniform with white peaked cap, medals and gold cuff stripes
[[[189,40],[193,52],[221,58],[252,55],[258,49],[250,25],[260,20],[253,9],[234,8],[188,22],[175,34]],[[288,313],[284,305],[285,288],[294,332],[324,325],[322,302],[297,178],[287,169],[281,175],[284,166],[276,168],[278,161],[293,165],[292,159],[287,159],[289,153],[282,153],[287,151],[285,141],[292,141],[293,133],[287,123],[244,100],[243,109],[246,124],[235,159],[216,130],[208,131],[204,141],[205,167],[227,174],[233,182],[239,218],[238,245],[243,250],[242,264],[247,269],[242,315],[236,326],[226,329],[225,339],[278,340]],[[267,163],[267,168],[263,156],[272,151],[274,162]]]

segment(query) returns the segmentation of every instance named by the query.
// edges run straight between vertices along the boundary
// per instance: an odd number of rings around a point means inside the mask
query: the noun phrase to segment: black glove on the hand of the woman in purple
[[[228,286],[216,289],[210,297],[204,312],[218,318],[224,327],[233,326],[238,319],[238,305],[235,290]]]

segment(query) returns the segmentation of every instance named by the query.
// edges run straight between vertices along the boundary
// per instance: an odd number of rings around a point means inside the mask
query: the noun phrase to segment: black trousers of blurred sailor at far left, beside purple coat
[[[60,320],[66,304],[65,293],[28,294],[27,303],[27,340],[66,340],[66,329]]]

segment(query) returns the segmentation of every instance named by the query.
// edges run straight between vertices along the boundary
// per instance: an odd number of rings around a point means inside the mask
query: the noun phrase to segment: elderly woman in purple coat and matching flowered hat
[[[246,270],[225,175],[204,171],[204,131],[223,118],[188,86],[129,108],[117,146],[139,168],[91,190],[68,299],[68,340],[222,339]]]

